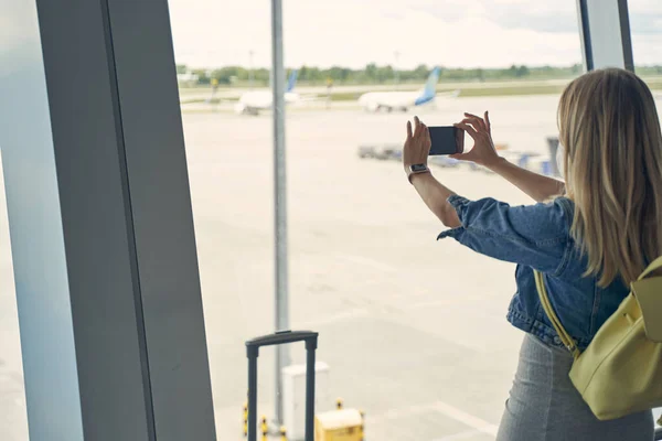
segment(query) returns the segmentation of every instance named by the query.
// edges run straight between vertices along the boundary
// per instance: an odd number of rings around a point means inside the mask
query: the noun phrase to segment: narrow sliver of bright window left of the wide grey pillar
[[[28,439],[23,363],[14,288],[4,181],[0,165],[0,439]]]

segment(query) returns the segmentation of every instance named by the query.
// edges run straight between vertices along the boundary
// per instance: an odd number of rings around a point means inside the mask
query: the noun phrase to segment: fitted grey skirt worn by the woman
[[[498,441],[652,441],[651,411],[599,421],[575,389],[572,355],[526,334]]]

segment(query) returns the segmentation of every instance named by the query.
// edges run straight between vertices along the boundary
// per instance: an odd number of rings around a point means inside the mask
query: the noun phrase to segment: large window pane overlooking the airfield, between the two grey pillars
[[[318,409],[363,410],[371,439],[494,439],[523,337],[505,320],[514,267],[436,240],[398,162],[405,122],[489,110],[502,154],[553,174],[558,97],[583,72],[574,0],[467,4],[284,4],[290,327],[320,332]],[[233,439],[244,342],[274,329],[269,2],[170,9],[216,426]],[[531,203],[469,163],[431,166],[467,197]],[[271,420],[273,354],[259,363]]]

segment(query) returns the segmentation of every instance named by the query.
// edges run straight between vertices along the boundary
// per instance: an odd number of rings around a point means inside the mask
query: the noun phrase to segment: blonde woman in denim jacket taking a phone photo
[[[651,92],[634,74],[595,71],[565,89],[558,107],[565,184],[513,165],[494,149],[488,112],[456,125],[474,140],[456,158],[483,165],[537,204],[469,201],[427,169],[427,127],[407,122],[404,165],[423,201],[451,237],[490,257],[517,263],[508,320],[525,338],[500,441],[651,441],[650,411],[599,421],[573,387],[573,357],[538,302],[533,270],[544,273],[551,302],[584,349],[628,294],[629,283],[662,255],[662,135]]]

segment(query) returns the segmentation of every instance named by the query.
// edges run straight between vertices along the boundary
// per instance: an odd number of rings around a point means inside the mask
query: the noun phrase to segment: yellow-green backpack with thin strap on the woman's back
[[[583,353],[554,312],[543,275],[534,271],[543,309],[575,357],[570,380],[599,420],[662,407],[662,268],[655,259]]]

